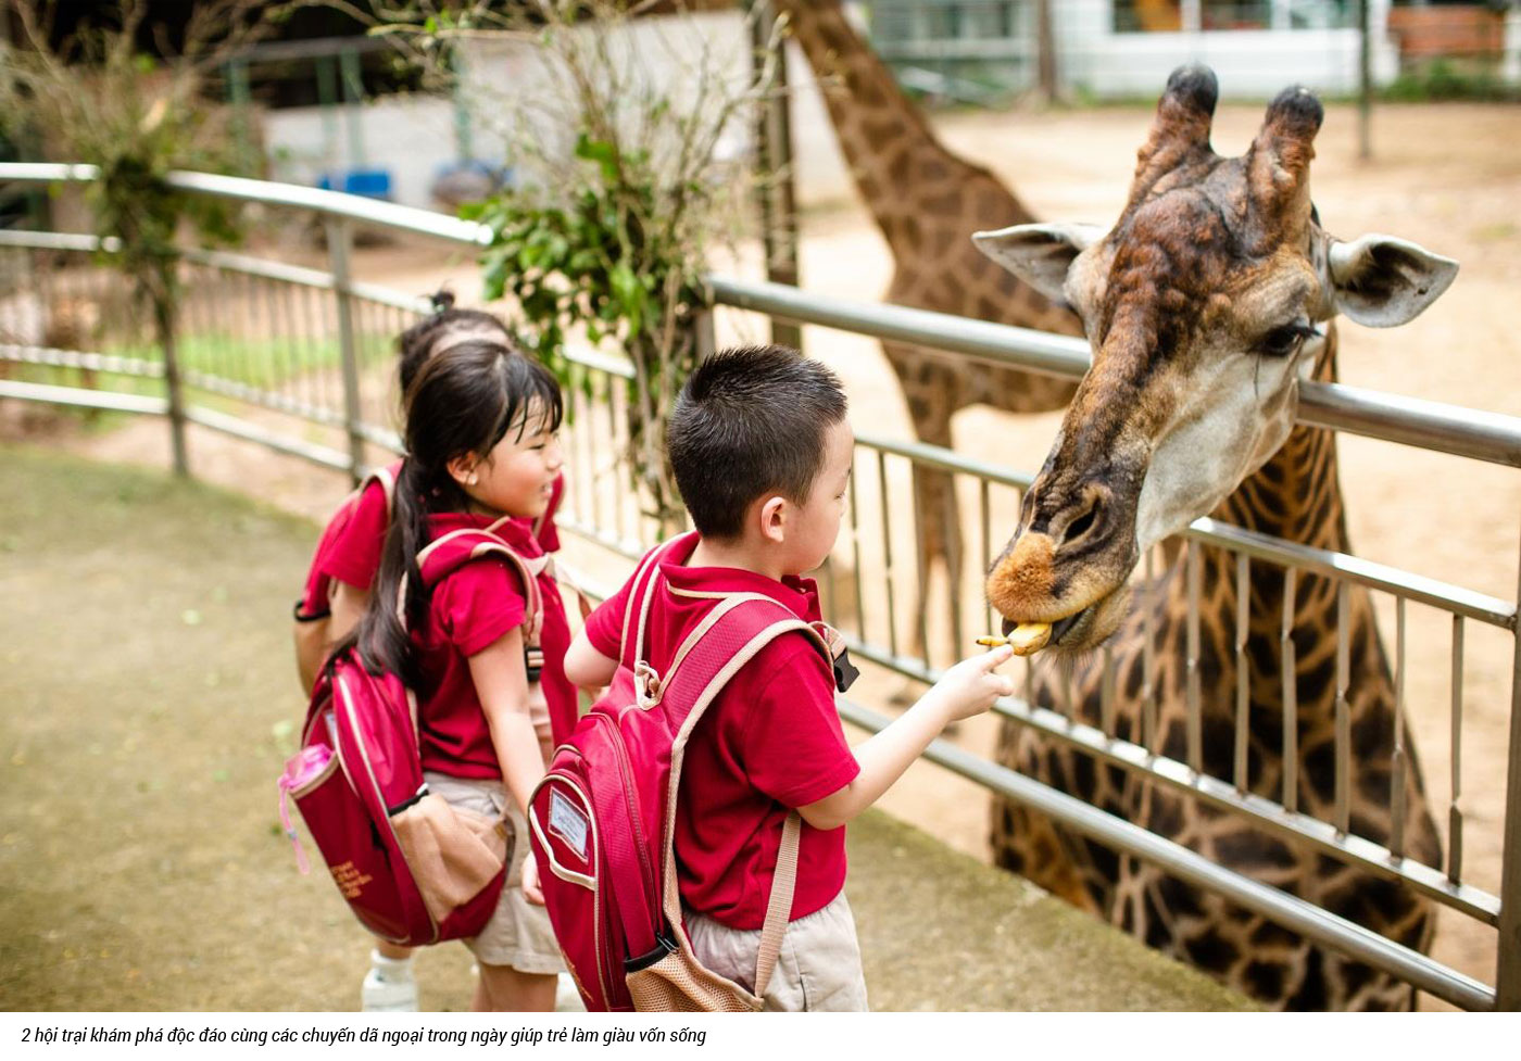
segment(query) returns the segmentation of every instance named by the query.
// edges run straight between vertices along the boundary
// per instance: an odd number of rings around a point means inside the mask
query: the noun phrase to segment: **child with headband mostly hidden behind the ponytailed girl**
[[[438,290],[430,296],[433,312],[409,327],[397,337],[397,377],[400,394],[406,394],[418,369],[430,357],[468,339],[484,339],[511,344],[506,325],[500,318],[485,310],[455,309],[452,292]],[[402,462],[389,467],[392,482],[402,471]],[[535,520],[534,537],[545,552],[558,552],[560,534],[555,529],[555,511],[564,489],[564,477],[555,479],[555,492],[549,509]],[[309,590],[298,607],[298,619],[321,617],[325,603],[329,637],[342,640],[357,625],[370,603],[370,587],[380,567],[380,546],[391,521],[385,489],[371,482],[359,499],[344,505],[329,520],[312,559]],[[316,593],[312,584],[330,587]],[[307,690],[310,692],[310,690]],[[365,1012],[415,1012],[417,982],[412,977],[412,952],[408,947],[376,941],[370,955],[370,971],[360,985],[360,1009]]]

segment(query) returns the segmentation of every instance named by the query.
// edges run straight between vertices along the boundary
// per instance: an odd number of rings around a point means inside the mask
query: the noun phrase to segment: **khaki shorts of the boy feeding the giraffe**
[[[683,911],[692,953],[719,976],[754,990],[760,930],[739,930]],[[765,990],[765,1008],[786,1012],[865,1012],[861,944],[846,894],[786,926],[782,953]]]

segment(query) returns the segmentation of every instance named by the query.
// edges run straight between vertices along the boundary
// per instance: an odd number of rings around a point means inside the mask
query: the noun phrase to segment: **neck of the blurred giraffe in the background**
[[[935,138],[923,114],[899,90],[891,71],[861,40],[832,0],[779,0],[792,38],[820,81],[824,105],[856,190],[882,230],[894,257],[922,252],[919,230],[940,219],[960,225],[964,201],[978,196],[978,213],[995,225],[1034,220],[1019,199],[981,166],[954,155]],[[932,192],[926,199],[922,192]],[[960,231],[964,242],[970,230]]]

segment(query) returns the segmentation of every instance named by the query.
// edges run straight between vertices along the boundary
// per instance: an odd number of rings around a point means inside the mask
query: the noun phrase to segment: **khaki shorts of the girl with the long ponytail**
[[[423,774],[423,780],[450,807],[464,807],[490,818],[499,818],[505,812],[511,836],[516,839],[513,862],[506,868],[506,883],[502,886],[496,912],[481,935],[461,942],[482,965],[510,965],[519,973],[546,976],[563,971],[566,965],[555,942],[555,930],[549,924],[549,912],[523,897],[523,859],[529,851],[528,822],[508,795],[506,786],[500,781],[447,777],[432,771]]]

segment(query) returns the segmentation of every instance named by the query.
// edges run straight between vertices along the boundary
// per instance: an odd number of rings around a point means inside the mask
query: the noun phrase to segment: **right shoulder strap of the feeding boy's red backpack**
[[[681,924],[681,894],[675,869],[675,807],[687,739],[713,698],[739,669],[767,645],[791,631],[803,634],[823,657],[826,666],[834,666],[830,646],[812,625],[765,594],[735,593],[713,605],[713,610],[686,637],[671,661],[665,681],[654,679],[649,707],[663,702],[675,733],[671,745],[671,783],[666,792],[665,856],[660,877],[662,904],[666,921],[674,927]],[[653,675],[648,667],[645,672]],[[643,683],[639,683],[639,705],[646,707]],[[797,883],[797,847],[802,830],[802,815],[791,810],[782,827],[782,845],[777,850],[765,923],[760,929],[754,979],[756,997],[765,996],[767,983],[782,949],[782,938],[786,935],[788,915],[792,912],[792,892]]]

